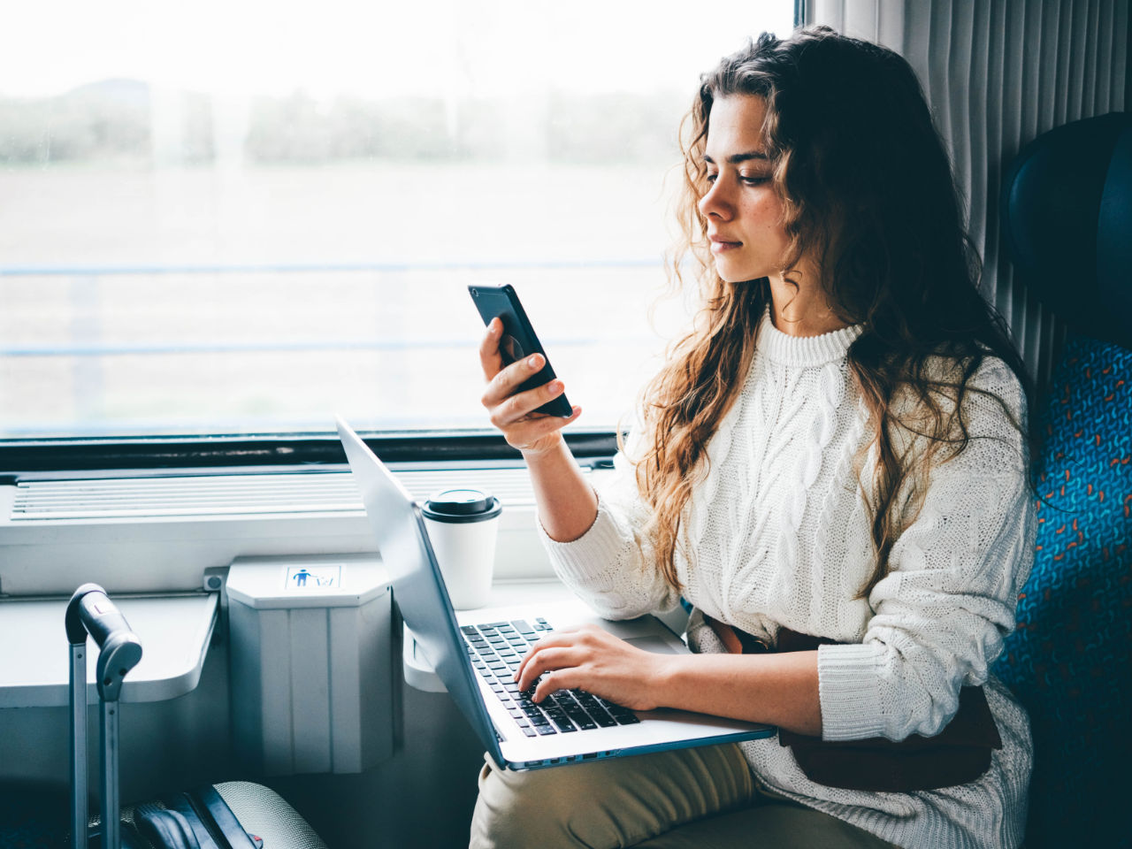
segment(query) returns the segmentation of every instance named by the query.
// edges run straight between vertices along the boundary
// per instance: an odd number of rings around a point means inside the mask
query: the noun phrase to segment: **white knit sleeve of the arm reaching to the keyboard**
[[[1021,387],[1001,361],[985,361],[972,385],[1024,427]],[[967,404],[971,440],[932,472],[869,594],[863,642],[818,650],[824,739],[938,734],[960,687],[986,681],[1014,627],[1036,528],[1026,440],[994,398],[972,394]]]

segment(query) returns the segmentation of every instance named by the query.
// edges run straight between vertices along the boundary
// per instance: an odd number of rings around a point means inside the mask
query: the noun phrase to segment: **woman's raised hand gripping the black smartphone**
[[[558,446],[561,440],[559,431],[577,419],[582,408],[572,408],[568,418],[538,412],[538,408],[565,392],[563,381],[555,378],[533,389],[520,391],[523,381],[542,369],[546,358],[533,353],[504,366],[499,351],[503,321],[491,319],[480,343],[480,366],[488,381],[481,402],[491,423],[503,431],[508,445],[526,456],[543,454]]]

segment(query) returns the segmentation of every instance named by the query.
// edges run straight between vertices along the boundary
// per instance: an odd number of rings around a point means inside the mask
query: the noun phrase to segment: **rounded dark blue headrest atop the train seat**
[[[1132,348],[1132,113],[1038,136],[1002,200],[1022,284],[1080,332]]]

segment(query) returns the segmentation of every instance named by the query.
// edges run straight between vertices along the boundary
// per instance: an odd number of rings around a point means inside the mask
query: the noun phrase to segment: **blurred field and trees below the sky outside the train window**
[[[0,436],[482,427],[470,282],[611,426],[683,320],[680,100],[0,100]]]

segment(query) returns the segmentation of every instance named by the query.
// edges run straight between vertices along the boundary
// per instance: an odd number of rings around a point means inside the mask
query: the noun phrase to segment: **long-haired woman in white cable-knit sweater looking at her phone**
[[[689,118],[683,223],[703,305],[609,486],[594,492],[561,439],[580,410],[532,412],[560,381],[515,393],[541,361],[501,369],[498,321],[480,353],[558,574],[610,618],[683,595],[697,653],[556,633],[520,686],[832,741],[933,737],[961,687],[985,685],[1001,748],[961,783],[886,791],[815,780],[774,738],[489,763],[472,844],[1017,846],[1029,729],[987,667],[1032,556],[1023,372],[979,297],[916,77],[829,29],[763,35],[704,76]],[[797,634],[827,644],[774,651]]]

